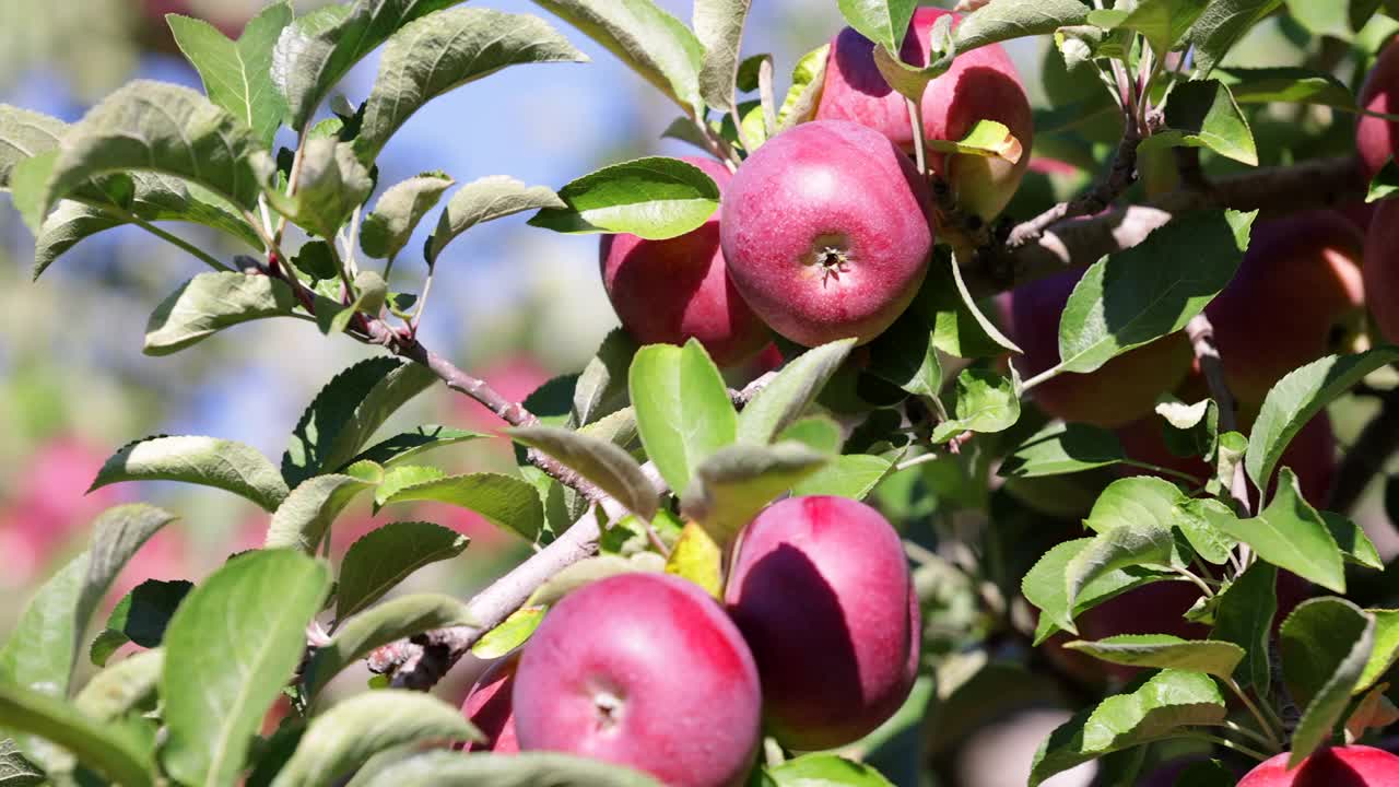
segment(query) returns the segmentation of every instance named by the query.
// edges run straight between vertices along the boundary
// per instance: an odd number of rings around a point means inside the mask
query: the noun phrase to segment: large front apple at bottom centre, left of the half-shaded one
[[[666,784],[741,784],[758,746],[758,671],[743,636],[698,585],[623,574],[568,594],[515,674],[523,751],[644,770]]]

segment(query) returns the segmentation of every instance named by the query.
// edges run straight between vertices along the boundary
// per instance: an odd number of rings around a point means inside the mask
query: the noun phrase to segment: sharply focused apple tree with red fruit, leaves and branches
[[[208,267],[151,304],[147,354],[255,319],[376,351],[280,464],[236,434],[113,451],[94,489],[215,487],[263,543],[139,587],[94,640],[180,527],[102,513],[0,648],[0,781],[954,783],[967,728],[1038,683],[1077,713],[1031,786],[1399,784],[1399,598],[1357,524],[1399,451],[1399,6],[838,0],[849,27],[778,64],[750,0],[536,3],[283,0],[232,36],[172,14],[203,92],[133,81],[73,125],[0,105],[35,286],[136,225]],[[576,36],[693,155],[557,185],[378,167],[434,98],[586,62]],[[1031,36],[1046,105],[1003,46]],[[418,325],[443,249],[520,213],[599,237],[620,328],[512,401]],[[516,472],[425,457],[481,431],[385,431],[439,385],[508,424]],[[464,543],[389,521],[333,562],[357,499],[534,549],[469,599],[393,592]],[[466,654],[497,662],[464,703],[428,693]]]

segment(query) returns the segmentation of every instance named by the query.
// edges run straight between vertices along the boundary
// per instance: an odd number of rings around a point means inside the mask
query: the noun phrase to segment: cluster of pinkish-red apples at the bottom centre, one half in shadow
[[[554,605],[463,713],[498,753],[560,751],[666,784],[743,784],[761,732],[851,744],[904,703],[921,640],[902,542],[844,497],[792,497],[744,528],[722,605],[700,585],[620,574]]]

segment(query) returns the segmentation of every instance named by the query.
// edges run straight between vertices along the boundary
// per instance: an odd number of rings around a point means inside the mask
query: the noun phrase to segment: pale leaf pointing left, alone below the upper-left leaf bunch
[[[284,281],[246,273],[200,273],[161,301],[145,323],[147,356],[168,356],[214,333],[270,316],[290,316],[297,297]]]

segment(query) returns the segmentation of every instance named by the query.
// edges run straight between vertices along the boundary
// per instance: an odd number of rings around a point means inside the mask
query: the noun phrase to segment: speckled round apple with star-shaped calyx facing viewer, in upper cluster
[[[869,342],[928,273],[928,188],[907,155],[856,123],[813,120],[772,137],[733,175],[720,210],[734,286],[799,344]]]

